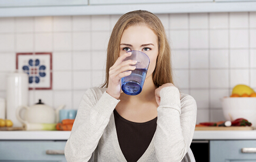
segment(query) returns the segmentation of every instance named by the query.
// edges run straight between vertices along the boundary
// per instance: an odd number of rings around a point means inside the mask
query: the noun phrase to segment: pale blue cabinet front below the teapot
[[[63,153],[66,141],[0,141],[0,161],[58,161],[66,162],[64,154],[49,154],[52,152]]]

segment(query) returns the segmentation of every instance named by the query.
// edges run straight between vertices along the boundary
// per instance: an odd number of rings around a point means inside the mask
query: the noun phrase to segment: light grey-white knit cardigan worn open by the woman
[[[105,88],[85,92],[65,146],[68,162],[123,161],[113,110],[120,100],[111,97]],[[181,161],[191,154],[190,144],[196,126],[197,104],[188,94],[176,87],[160,91],[157,108],[157,127],[154,137],[140,161]]]

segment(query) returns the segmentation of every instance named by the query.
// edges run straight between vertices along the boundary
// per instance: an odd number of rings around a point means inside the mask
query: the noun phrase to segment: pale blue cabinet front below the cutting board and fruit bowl
[[[256,140],[210,140],[210,162],[256,162],[256,153],[242,148],[256,148]]]

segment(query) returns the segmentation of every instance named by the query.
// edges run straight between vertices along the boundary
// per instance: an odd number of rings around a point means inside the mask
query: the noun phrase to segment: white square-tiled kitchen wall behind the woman
[[[157,15],[172,47],[175,85],[197,101],[197,123],[224,120],[219,98],[236,84],[256,90],[256,12]],[[0,97],[16,52],[52,52],[52,90],[30,90],[57,108],[77,109],[104,79],[106,49],[120,15],[0,18]]]

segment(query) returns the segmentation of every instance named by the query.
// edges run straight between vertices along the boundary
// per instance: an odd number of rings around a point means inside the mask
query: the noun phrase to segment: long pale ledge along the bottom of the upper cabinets
[[[143,9],[155,14],[202,12],[253,12],[256,1],[249,2],[183,2],[151,4],[109,4],[68,6],[4,7],[0,1],[0,17],[125,14]],[[2,4],[1,4],[2,3]]]

